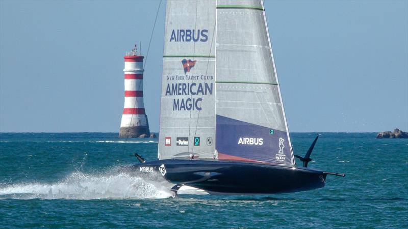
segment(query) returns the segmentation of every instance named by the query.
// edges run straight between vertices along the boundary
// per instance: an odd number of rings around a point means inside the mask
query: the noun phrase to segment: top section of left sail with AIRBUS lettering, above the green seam
[[[215,1],[167,1],[163,56],[214,56],[215,15]]]

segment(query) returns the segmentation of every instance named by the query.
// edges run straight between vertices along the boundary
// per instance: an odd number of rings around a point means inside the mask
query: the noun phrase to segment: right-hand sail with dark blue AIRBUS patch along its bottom
[[[216,59],[218,157],[294,164],[261,1],[218,1]]]

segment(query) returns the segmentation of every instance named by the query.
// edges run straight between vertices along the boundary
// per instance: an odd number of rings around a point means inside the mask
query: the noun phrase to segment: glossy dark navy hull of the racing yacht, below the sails
[[[169,159],[134,166],[137,171],[161,173],[167,181],[180,186],[188,185],[219,194],[272,194],[311,190],[324,187],[327,175],[309,168],[221,160]]]

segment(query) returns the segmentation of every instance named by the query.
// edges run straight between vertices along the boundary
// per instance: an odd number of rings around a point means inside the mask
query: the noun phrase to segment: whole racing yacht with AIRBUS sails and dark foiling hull
[[[270,194],[325,185],[295,166],[260,0],[167,1],[158,160],[135,169],[214,194]]]

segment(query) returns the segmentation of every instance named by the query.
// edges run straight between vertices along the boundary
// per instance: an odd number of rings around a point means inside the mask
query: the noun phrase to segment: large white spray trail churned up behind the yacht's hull
[[[0,199],[168,198],[171,186],[160,177],[151,180],[125,171],[100,175],[75,172],[55,183],[0,184]]]

